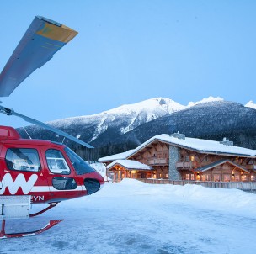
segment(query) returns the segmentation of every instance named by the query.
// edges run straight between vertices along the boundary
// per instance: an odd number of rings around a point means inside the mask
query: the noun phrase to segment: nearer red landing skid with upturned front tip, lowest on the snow
[[[25,237],[25,236],[33,236],[39,235],[40,233],[51,229],[51,227],[59,224],[62,220],[50,220],[47,225],[45,225],[40,230],[30,231],[30,232],[22,232],[22,233],[5,233],[5,220],[2,221],[2,230],[0,232],[0,239],[13,238],[13,237]]]

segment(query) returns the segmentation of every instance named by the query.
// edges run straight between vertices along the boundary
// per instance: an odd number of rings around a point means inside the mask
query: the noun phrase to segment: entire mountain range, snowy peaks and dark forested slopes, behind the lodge
[[[60,119],[48,124],[96,147],[93,158],[133,149],[153,135],[175,131],[209,140],[227,136],[236,146],[256,148],[256,111],[222,98],[209,97],[187,106],[169,98],[152,98],[100,114]],[[26,130],[32,138],[63,140],[39,127],[28,126]],[[19,133],[28,138],[24,130],[20,129]],[[69,140],[65,140],[65,144],[81,151]],[[83,156],[86,158],[88,154]]]

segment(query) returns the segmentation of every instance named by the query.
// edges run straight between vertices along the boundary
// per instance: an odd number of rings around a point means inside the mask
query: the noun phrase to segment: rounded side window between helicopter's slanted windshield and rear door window
[[[51,172],[56,174],[68,175],[70,168],[61,151],[49,149],[45,153],[46,161]]]

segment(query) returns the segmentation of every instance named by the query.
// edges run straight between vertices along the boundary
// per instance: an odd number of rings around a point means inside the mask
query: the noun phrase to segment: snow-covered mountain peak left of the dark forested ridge
[[[184,108],[186,107],[170,98],[152,98],[141,103],[113,108],[100,114],[59,119],[47,124],[67,131],[67,133],[71,132],[72,135],[91,143],[100,137],[104,138],[104,135],[109,136],[109,132],[112,133],[113,130],[115,130],[115,135],[123,135],[152,119],[172,114]],[[32,136],[36,130],[40,129],[34,126]],[[38,134],[35,133],[35,136],[38,136]]]

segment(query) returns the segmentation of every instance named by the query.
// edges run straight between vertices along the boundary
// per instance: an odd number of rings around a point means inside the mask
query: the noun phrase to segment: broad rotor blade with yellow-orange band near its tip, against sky
[[[10,32],[10,31],[8,31]],[[50,61],[77,31],[36,16],[0,73],[0,97],[8,97],[25,78]]]

